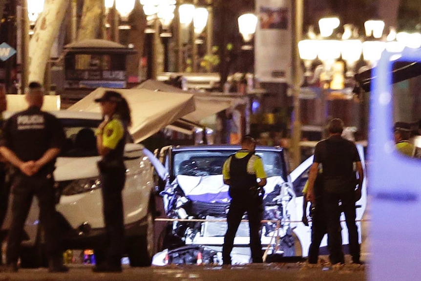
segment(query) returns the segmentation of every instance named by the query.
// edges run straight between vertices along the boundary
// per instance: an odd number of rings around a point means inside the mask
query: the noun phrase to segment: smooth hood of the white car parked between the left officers
[[[97,162],[101,156],[59,157],[56,162],[54,178],[56,181],[89,178],[99,175]]]

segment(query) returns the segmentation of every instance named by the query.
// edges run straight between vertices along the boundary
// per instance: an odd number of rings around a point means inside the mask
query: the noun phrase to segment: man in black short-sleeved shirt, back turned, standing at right
[[[355,223],[355,202],[361,198],[363,170],[357,147],[351,141],[341,137],[342,120],[336,118],[329,123],[329,138],[317,143],[313,165],[310,168],[307,199],[315,202],[314,183],[318,165],[323,166],[323,206],[326,212],[328,248],[332,264],[345,262],[340,233],[340,213],[345,215],[349,234],[349,246],[352,260],[360,263],[358,229]],[[358,187],[354,172],[354,163],[358,171]],[[339,202],[341,206],[339,207]]]

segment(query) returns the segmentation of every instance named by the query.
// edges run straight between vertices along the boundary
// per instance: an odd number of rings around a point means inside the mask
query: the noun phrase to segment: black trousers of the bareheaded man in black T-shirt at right
[[[341,206],[338,205],[339,201],[342,202]],[[340,233],[341,211],[345,215],[345,222],[348,228],[349,250],[352,260],[353,262],[359,262],[360,248],[358,243],[358,229],[355,223],[355,192],[331,193],[325,191],[323,194],[323,203],[326,211],[328,247],[331,263],[345,262]]]

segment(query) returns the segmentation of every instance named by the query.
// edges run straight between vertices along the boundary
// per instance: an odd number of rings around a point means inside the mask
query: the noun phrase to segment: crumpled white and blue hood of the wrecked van
[[[186,197],[192,201],[209,203],[227,203],[231,200],[228,195],[229,186],[224,184],[222,174],[206,176],[177,175],[176,182],[183,190]],[[264,187],[265,196],[274,191],[276,185],[284,182],[282,177],[267,178]]]

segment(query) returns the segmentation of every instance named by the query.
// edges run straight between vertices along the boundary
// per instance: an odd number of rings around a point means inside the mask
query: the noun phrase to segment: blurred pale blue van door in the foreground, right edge
[[[400,153],[395,146],[394,122],[408,111],[408,119],[420,120],[416,108],[419,90],[411,92],[414,102],[399,103],[411,81],[392,86],[391,70],[399,62],[421,61],[421,49],[405,48],[401,53],[383,52],[373,71],[374,83],[370,93],[370,131],[368,151],[370,167],[371,231],[370,281],[414,280],[420,275],[421,252],[421,160]],[[412,78],[414,79],[414,78]],[[401,110],[400,118],[396,117]],[[415,121],[413,120],[413,121]]]

